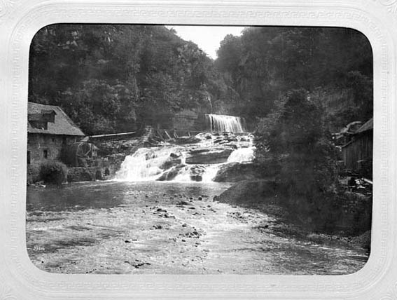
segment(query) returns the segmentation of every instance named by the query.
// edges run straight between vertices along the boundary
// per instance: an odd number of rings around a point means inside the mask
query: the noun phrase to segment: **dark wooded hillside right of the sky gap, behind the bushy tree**
[[[372,51],[352,29],[249,27],[225,36],[215,64],[244,100],[239,113],[249,120],[267,116],[298,88],[321,102],[330,130],[372,116]]]

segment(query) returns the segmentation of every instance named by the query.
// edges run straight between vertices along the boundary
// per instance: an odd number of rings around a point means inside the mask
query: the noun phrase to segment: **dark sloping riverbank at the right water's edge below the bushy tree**
[[[346,195],[349,198],[346,198]],[[344,207],[356,208],[346,204],[349,203],[351,198],[353,198],[356,207],[361,205],[361,210],[357,209],[354,212],[349,210],[342,211],[341,209]],[[362,203],[358,203],[357,198],[361,198]],[[283,223],[283,229],[280,230],[280,234],[292,235],[301,240],[309,240],[323,245],[360,247],[368,254],[370,252],[370,226],[367,225],[368,223],[370,224],[370,205],[368,205],[366,198],[355,196],[353,193],[344,194],[344,199],[342,200],[345,203],[340,205],[340,207],[335,205],[333,207],[335,211],[325,211],[322,207],[318,207],[316,211],[318,215],[309,212],[307,208],[294,210],[294,205],[304,206],[305,203],[300,203],[298,197],[291,201],[286,195],[285,189],[282,189],[282,186],[273,180],[256,179],[237,182],[237,184],[231,186],[221,195],[216,196],[215,200],[230,205],[253,208],[274,217],[274,219]],[[324,203],[327,205],[325,200]],[[327,227],[324,226],[324,222],[330,220],[330,216],[335,215],[335,212],[339,211],[341,211],[337,217],[339,223],[334,223],[333,226],[330,226],[330,224],[327,224]],[[349,213],[355,214],[351,216]],[[368,214],[369,220],[367,220]],[[323,221],[318,221],[318,219],[323,219]],[[333,221],[335,222],[335,219]],[[365,224],[365,226],[362,226],[360,228],[361,231],[358,231],[356,229],[357,224],[360,226]]]

